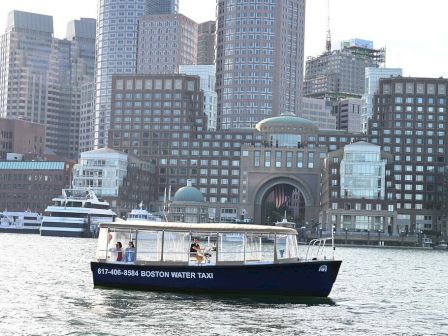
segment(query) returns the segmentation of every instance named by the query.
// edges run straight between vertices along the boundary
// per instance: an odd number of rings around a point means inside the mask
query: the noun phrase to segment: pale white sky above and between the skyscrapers
[[[215,19],[216,0],[179,0],[180,12],[204,22]],[[386,66],[405,76],[448,77],[447,0],[307,0],[305,58],[324,51],[330,3],[333,48],[345,39],[372,40],[386,47]],[[67,22],[96,17],[97,0],[0,0],[0,31],[13,9],[52,15],[55,36],[65,37]]]

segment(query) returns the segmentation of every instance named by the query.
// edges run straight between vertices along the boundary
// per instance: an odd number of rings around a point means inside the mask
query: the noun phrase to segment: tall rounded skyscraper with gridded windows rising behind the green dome
[[[254,127],[300,109],[305,0],[219,0],[218,127]]]

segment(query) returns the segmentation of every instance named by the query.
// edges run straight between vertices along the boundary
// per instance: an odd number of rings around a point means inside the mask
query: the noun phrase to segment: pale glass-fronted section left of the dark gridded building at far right
[[[368,120],[373,115],[373,98],[378,91],[381,78],[401,76],[400,68],[366,68],[364,94],[362,95],[361,124],[362,132],[367,133]]]

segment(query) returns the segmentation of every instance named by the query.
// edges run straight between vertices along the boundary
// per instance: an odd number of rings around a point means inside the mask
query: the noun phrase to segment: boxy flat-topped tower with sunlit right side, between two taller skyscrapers
[[[181,64],[196,64],[198,24],[182,14],[139,18],[137,73],[178,73]]]

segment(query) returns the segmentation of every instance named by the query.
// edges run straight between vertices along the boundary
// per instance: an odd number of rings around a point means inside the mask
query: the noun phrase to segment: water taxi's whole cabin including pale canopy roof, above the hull
[[[299,260],[297,232],[289,228],[124,223],[100,224],[96,255],[99,262],[213,266]]]

